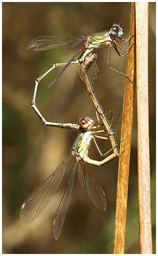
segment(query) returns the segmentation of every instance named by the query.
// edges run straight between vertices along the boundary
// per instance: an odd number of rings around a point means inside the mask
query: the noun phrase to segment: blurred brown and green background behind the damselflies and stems
[[[101,169],[90,167],[107,197],[107,211],[99,211],[81,188],[77,177],[58,241],[53,238],[53,217],[63,194],[62,185],[43,213],[29,225],[21,223],[25,198],[71,152],[75,131],[44,127],[31,109],[35,79],[53,63],[68,61],[79,47],[51,51],[26,49],[39,35],[74,37],[91,35],[120,23],[123,37],[129,36],[131,3],[3,3],[3,253],[113,253],[118,160]],[[144,33],[146,28],[143,27]],[[155,3],[149,3],[149,119],[151,146],[151,209],[155,253]],[[120,139],[125,77],[107,67],[108,47],[98,51],[101,75],[95,92],[105,113],[113,111]],[[125,72],[126,59],[111,54],[111,65]],[[71,65],[50,89],[57,71],[40,83],[37,107],[47,121],[78,123],[79,117],[95,119],[95,107]],[[58,69],[59,70],[59,69]],[[103,146],[103,145],[102,145]],[[106,148],[103,147],[106,151]],[[97,159],[93,147],[91,156]],[[134,106],[131,169],[125,253],[139,253],[137,198],[137,122]]]

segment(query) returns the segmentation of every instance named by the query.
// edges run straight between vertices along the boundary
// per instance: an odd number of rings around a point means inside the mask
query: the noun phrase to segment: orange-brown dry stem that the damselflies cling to
[[[135,35],[135,3],[131,3],[130,35]],[[131,38],[130,43],[135,40]],[[131,47],[128,55],[126,74],[134,81],[134,55],[135,47]],[[129,183],[129,162],[131,153],[131,133],[133,125],[133,95],[134,83],[125,81],[123,101],[123,119],[121,127],[120,158],[117,180],[117,203],[115,213],[115,241],[114,254],[123,254],[125,251],[125,225],[127,214],[127,195]]]

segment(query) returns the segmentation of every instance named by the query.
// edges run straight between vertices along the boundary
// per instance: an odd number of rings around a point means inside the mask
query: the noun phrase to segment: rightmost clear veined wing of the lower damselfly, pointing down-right
[[[103,189],[91,171],[89,171],[87,164],[83,160],[80,160],[77,163],[77,172],[80,177],[79,181],[81,185],[85,185],[94,205],[101,211],[105,211],[107,209],[107,201]]]

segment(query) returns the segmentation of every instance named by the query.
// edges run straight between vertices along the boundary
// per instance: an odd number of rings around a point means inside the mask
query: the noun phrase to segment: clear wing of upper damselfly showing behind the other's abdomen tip
[[[91,67],[89,67],[89,78],[91,79],[91,83],[95,83],[100,75],[99,67],[96,63],[93,63]],[[85,83],[85,78],[82,72],[82,65],[79,66],[79,76],[81,77],[82,81]]]

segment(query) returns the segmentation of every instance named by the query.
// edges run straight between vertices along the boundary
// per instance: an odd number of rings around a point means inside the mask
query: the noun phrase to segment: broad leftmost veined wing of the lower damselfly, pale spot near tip
[[[57,191],[71,157],[72,155],[69,155],[69,157],[62,161],[57,169],[27,197],[21,207],[21,221],[23,223],[30,223],[45,209]]]

